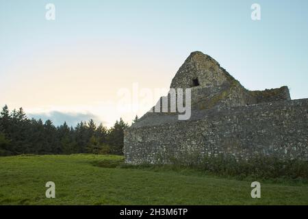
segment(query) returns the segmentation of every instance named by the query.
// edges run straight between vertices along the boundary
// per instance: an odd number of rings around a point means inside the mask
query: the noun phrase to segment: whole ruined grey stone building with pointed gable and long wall
[[[179,112],[144,114],[125,131],[127,163],[219,154],[308,159],[308,99],[291,100],[287,86],[247,90],[216,60],[196,51],[170,88],[191,88],[190,119],[179,120]]]

